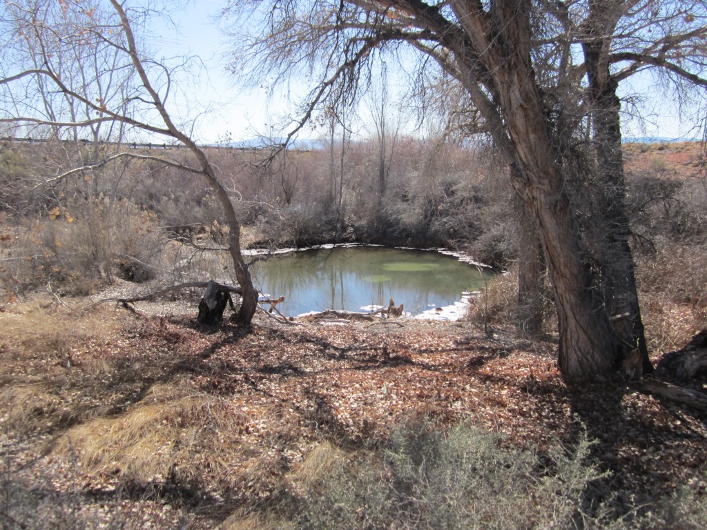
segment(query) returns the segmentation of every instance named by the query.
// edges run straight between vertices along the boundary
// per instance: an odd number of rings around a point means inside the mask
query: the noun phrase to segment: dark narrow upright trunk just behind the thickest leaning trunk
[[[612,328],[621,342],[619,355],[634,349],[641,352],[643,373],[653,372],[645,343],[641,308],[636,288],[636,264],[629,238],[631,227],[626,212],[626,180],[621,149],[621,101],[617,81],[602,61],[602,42],[584,45],[592,98],[592,126],[596,164],[592,189],[592,217],[589,239],[601,263],[602,290]]]

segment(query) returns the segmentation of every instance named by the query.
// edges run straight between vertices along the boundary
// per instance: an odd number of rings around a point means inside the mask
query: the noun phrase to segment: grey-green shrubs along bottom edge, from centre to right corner
[[[571,447],[539,454],[470,425],[414,423],[397,428],[382,450],[317,447],[293,473],[303,488],[291,499],[289,519],[308,530],[705,527],[703,473],[650,507],[617,514],[601,482],[609,475],[591,453],[583,433]]]

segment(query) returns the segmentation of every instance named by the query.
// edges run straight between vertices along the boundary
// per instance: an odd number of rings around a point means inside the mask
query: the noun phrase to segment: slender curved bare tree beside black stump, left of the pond
[[[240,221],[206,151],[168,107],[175,97],[180,61],[170,66],[143,47],[140,35],[151,8],[110,0],[22,0],[0,7],[2,33],[0,122],[25,131],[44,127],[57,140],[101,139],[116,150],[47,177],[52,187],[73,175],[94,172],[117,160],[151,160],[199,175],[218,197],[228,225],[228,252],[243,291],[238,320],[250,323],[257,307],[248,264],[240,250]],[[103,132],[103,128],[107,130]],[[192,163],[122,149],[125,134],[162,138],[185,146]]]

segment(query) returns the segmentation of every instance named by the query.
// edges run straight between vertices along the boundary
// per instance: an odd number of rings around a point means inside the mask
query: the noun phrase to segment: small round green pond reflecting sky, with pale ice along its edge
[[[481,290],[476,266],[436,251],[333,247],[277,254],[251,267],[253,282],[286,316],[312,311],[373,310],[390,298],[406,314],[455,319],[464,293]],[[267,307],[267,306],[266,306]]]

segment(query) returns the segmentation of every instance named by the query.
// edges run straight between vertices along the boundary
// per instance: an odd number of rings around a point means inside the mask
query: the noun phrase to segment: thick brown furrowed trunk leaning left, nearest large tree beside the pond
[[[492,18],[474,18],[484,26],[469,27],[467,35],[489,30],[496,35],[493,47],[484,51],[485,66],[510,143],[512,184],[534,218],[547,260],[559,325],[559,368],[568,382],[607,378],[616,370],[619,343],[573,216],[556,132],[532,69],[530,2],[499,0],[494,7]]]

